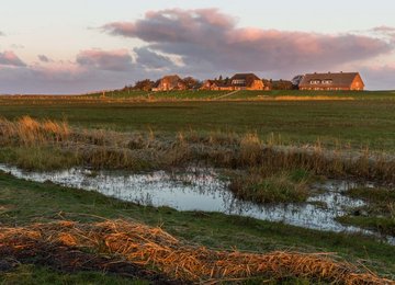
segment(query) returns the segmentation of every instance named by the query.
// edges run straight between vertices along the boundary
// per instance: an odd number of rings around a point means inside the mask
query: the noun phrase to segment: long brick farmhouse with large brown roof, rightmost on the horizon
[[[364,83],[358,72],[308,73],[303,77],[298,89],[362,91],[364,89]]]

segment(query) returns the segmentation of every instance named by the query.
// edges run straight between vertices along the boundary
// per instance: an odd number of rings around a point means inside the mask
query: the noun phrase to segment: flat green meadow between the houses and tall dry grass
[[[66,119],[72,126],[121,132],[256,132],[263,140],[275,138],[276,144],[318,140],[328,147],[395,149],[394,92],[241,91],[235,96],[244,101],[219,102],[211,99],[213,91],[183,91],[187,94],[183,96],[181,91],[157,93],[150,101],[146,96],[136,99],[142,96],[142,92],[137,93],[137,96],[122,93],[123,99],[0,96],[0,116]],[[200,101],[173,100],[192,96]],[[338,100],[345,98],[350,100]]]

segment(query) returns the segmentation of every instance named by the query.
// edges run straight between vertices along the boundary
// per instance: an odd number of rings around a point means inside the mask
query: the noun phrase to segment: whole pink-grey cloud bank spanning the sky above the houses
[[[329,70],[360,71],[368,89],[395,89],[391,62],[395,27],[391,26],[343,34],[278,31],[240,27],[235,18],[217,9],[168,9],[147,12],[133,22],[108,23],[100,31],[110,39],[125,38],[124,47],[87,48],[67,61],[38,54],[38,62],[19,57],[16,46],[0,50],[0,93],[81,93],[167,73],[206,79],[253,71],[264,78],[290,79]],[[379,65],[383,58],[388,62]]]

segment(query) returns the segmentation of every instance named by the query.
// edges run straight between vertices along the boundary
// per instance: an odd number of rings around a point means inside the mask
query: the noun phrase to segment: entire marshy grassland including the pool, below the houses
[[[0,96],[0,226],[8,232],[0,232],[0,280],[391,284],[394,151],[392,91]],[[115,226],[97,224],[103,220]],[[143,229],[138,244],[156,244],[147,252],[158,258],[171,248],[195,263],[137,260],[89,233],[121,235],[133,225]],[[153,230],[160,235],[145,236]],[[58,247],[61,264],[53,262]],[[76,265],[70,248],[95,262]],[[275,269],[256,266],[279,252],[289,255]],[[284,261],[296,253],[303,269]],[[238,271],[240,260],[247,267]],[[199,262],[212,271],[189,274],[185,264]],[[326,265],[317,271],[312,262]]]

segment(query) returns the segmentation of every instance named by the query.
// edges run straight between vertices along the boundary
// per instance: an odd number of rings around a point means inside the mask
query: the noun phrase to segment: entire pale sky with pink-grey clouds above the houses
[[[315,71],[395,90],[393,11],[393,0],[2,0],[0,94]]]

